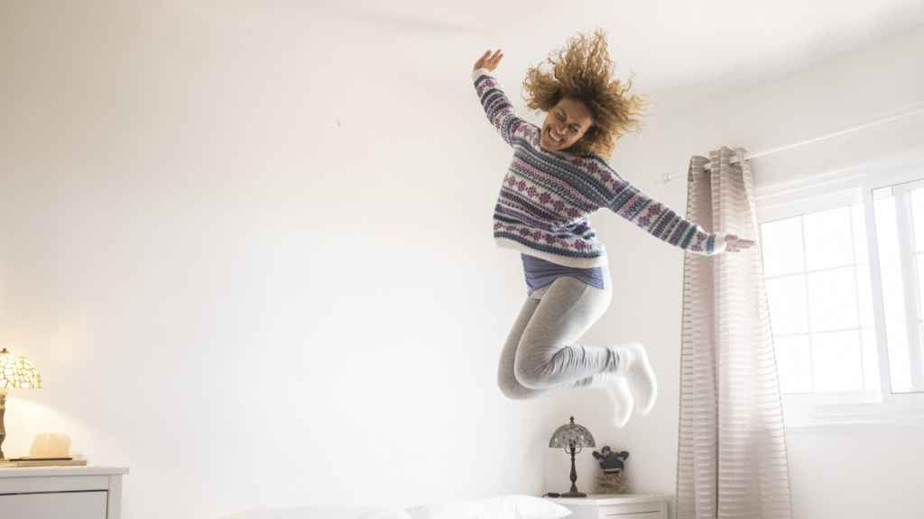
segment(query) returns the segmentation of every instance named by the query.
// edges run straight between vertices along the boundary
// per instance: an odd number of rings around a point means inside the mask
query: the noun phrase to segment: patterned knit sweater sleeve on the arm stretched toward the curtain
[[[604,161],[600,161],[604,163]],[[651,199],[606,166],[610,183],[607,207],[648,233],[688,252],[713,256],[725,250],[725,235],[707,233],[661,202]]]

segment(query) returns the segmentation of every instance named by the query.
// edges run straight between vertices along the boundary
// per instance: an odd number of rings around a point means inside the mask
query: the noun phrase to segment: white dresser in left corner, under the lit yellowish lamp
[[[128,468],[0,468],[0,517],[119,519]]]

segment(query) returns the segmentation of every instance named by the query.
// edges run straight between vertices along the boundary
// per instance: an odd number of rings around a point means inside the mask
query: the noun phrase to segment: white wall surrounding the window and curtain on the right
[[[655,199],[685,210],[687,161],[718,146],[763,151],[894,115],[924,103],[924,28],[876,42],[861,52],[818,64],[772,83],[656,99],[648,128],[626,138],[614,164]],[[920,145],[924,115],[915,115],[849,136],[784,151],[753,162],[760,189],[799,177],[831,173]],[[663,175],[675,180],[663,184]],[[660,376],[661,399],[651,415],[617,431],[604,418],[587,420],[598,441],[631,453],[632,486],[675,491],[679,402],[682,255],[616,218],[600,215],[614,272],[613,307],[590,340],[638,338],[648,344]],[[580,412],[604,404],[589,400]],[[798,519],[919,517],[916,489],[924,425],[856,425],[791,430],[787,435]],[[592,461],[592,460],[590,460]],[[590,477],[585,460],[580,477]]]

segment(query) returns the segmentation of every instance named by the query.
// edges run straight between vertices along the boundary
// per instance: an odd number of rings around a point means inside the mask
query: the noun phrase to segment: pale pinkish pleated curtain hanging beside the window
[[[722,148],[690,159],[688,220],[759,239],[744,156]],[[687,254],[681,355],[677,519],[790,519],[759,245],[711,258]]]

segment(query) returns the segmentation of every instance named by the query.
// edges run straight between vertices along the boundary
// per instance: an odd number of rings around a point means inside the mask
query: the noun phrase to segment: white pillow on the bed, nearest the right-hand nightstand
[[[407,513],[411,519],[561,519],[571,511],[549,500],[517,495],[420,506]]]

